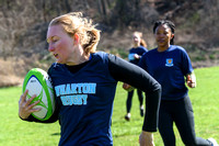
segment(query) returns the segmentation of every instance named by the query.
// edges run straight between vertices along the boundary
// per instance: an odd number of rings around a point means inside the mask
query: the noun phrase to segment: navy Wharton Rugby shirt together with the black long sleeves
[[[147,93],[142,130],[155,132],[161,86],[142,68],[106,53],[91,54],[77,66],[53,64],[48,70],[56,94],[56,111],[47,121],[32,115],[26,121],[53,123],[59,120],[61,146],[111,146],[113,100],[117,81]]]

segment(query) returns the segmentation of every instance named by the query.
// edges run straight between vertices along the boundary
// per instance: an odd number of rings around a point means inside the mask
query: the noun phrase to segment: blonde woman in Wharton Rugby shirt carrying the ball
[[[153,146],[158,127],[161,86],[148,72],[119,57],[96,52],[100,31],[81,12],[55,18],[48,25],[48,50],[56,58],[48,69],[56,98],[56,110],[47,121],[31,114],[41,109],[26,100],[26,90],[19,101],[19,116],[28,122],[59,121],[59,146],[112,146],[113,102],[118,81],[147,93],[147,112],[139,136],[141,146]],[[129,90],[127,88],[127,90]]]

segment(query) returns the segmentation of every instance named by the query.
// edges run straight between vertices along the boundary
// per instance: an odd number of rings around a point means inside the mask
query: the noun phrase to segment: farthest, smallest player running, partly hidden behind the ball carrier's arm
[[[141,32],[134,32],[132,34],[132,47],[129,49],[128,54],[128,60],[134,64],[138,65],[142,54],[148,52],[146,48],[147,44],[142,38],[142,33]],[[127,83],[124,83],[123,87],[127,86]],[[130,109],[131,109],[131,102],[132,102],[132,97],[134,97],[134,91],[128,91],[128,97],[126,100],[126,112],[127,114],[125,115],[125,120],[129,121],[130,120]],[[137,89],[137,94],[138,94],[138,100],[139,100],[139,110],[140,110],[140,116],[143,116],[143,94],[142,91]]]

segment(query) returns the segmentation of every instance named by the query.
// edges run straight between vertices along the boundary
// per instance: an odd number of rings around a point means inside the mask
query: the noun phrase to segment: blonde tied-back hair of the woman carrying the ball
[[[90,54],[96,50],[100,41],[100,30],[96,30],[92,23],[92,20],[83,18],[81,12],[71,12],[55,18],[49,26],[60,24],[72,37],[77,33],[85,54]]]

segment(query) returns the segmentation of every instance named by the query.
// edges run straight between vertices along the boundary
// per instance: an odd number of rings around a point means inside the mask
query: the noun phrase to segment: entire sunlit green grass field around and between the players
[[[199,137],[214,137],[219,142],[219,67],[196,69],[197,88],[189,89],[194,108],[196,134]],[[18,116],[21,87],[0,89],[0,146],[56,146],[60,137],[59,124],[39,124],[21,121]],[[139,103],[132,100],[131,121],[124,120],[127,92],[118,83],[112,132],[115,146],[138,146],[142,117]],[[175,128],[176,145],[183,146]],[[157,146],[162,146],[159,133],[154,133]]]

